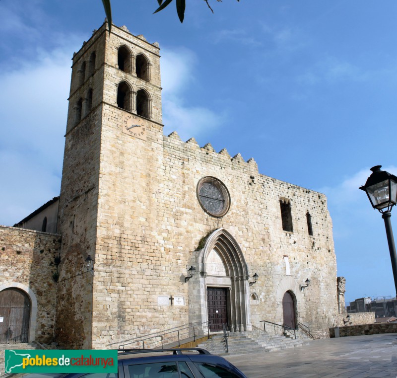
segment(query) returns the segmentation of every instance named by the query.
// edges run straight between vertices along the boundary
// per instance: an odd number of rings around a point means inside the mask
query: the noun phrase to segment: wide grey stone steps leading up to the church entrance
[[[299,335],[299,336],[298,336]],[[223,334],[215,335],[199,348],[217,355],[234,355],[247,353],[263,353],[275,350],[300,347],[308,345],[310,338],[303,332],[296,331],[296,339],[289,336],[270,335],[264,331],[254,330],[246,332],[231,332],[228,338],[228,349],[226,352],[226,341]]]

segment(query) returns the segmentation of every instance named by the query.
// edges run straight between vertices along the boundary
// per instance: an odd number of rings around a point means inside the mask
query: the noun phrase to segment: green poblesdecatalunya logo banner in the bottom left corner
[[[5,373],[117,373],[117,350],[10,350]]]

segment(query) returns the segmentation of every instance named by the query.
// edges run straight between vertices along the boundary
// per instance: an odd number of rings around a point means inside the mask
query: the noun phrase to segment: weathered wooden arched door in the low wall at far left
[[[30,299],[16,288],[0,292],[0,344],[27,343]]]

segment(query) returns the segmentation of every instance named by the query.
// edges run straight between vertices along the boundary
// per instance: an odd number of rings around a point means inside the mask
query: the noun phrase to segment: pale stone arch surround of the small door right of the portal
[[[304,303],[303,303],[303,295],[301,292],[301,288],[298,282],[292,278],[291,276],[284,277],[276,289],[276,319],[274,319],[275,323],[283,324],[284,322],[284,314],[283,314],[283,299],[285,293],[289,293],[294,301],[294,312],[295,312],[295,321],[296,324],[302,321],[301,315],[304,313]]]

